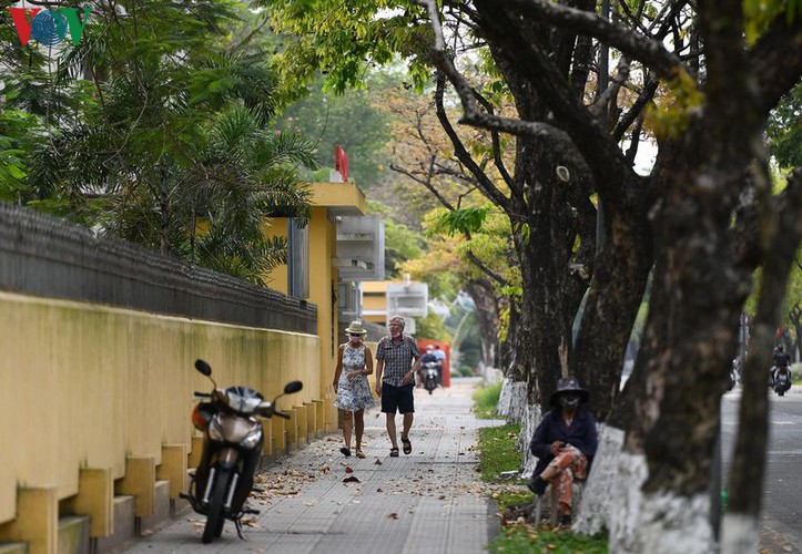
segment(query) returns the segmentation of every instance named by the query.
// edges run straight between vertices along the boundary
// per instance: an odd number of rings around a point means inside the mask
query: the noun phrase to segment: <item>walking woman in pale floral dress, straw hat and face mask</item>
[[[344,456],[351,456],[352,412],[354,433],[356,434],[356,456],[365,458],[362,452],[362,433],[365,430],[365,408],[376,406],[367,376],[373,373],[370,349],[363,343],[367,331],[362,321],[352,321],[345,332],[348,342],[339,345],[337,368],[334,371],[334,391],[337,398],[334,406],[343,414],[343,438],[345,447],[339,449]]]

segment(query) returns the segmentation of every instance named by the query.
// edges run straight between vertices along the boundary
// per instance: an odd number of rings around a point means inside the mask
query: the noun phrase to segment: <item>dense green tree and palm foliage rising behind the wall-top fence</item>
[[[297,168],[316,167],[309,141],[271,127],[277,81],[246,30],[263,16],[230,0],[120,6],[94,11],[57,71],[37,49],[2,75],[0,100],[38,132],[3,113],[0,195],[262,283],[286,258],[262,225],[307,218]]]

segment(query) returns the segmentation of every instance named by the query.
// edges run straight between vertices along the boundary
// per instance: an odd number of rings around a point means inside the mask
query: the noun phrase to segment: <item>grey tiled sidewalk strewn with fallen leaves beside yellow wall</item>
[[[339,453],[339,433],[282,458],[260,479],[266,492],[251,504],[262,513],[244,526],[246,541],[226,522],[223,536],[204,545],[204,519],[189,513],[125,552],[486,552],[497,516],[474,448],[477,428],[502,422],[474,418],[475,386],[455,379],[432,396],[416,389],[410,455],[389,458],[384,414],[373,409],[365,414],[364,460]],[[400,432],[400,417],[396,424]]]

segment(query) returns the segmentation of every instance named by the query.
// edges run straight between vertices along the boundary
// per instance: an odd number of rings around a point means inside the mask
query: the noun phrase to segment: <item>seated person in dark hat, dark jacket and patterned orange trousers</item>
[[[544,494],[548,483],[557,486],[560,525],[571,525],[573,480],[588,476],[596,454],[596,420],[580,404],[588,401],[588,391],[575,377],[557,381],[557,390],[549,403],[555,408],[544,416],[535,430],[529,450],[538,464],[528,486],[535,494]]]

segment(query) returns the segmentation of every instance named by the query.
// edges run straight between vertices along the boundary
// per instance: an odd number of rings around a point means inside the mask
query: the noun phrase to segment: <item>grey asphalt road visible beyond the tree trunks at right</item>
[[[724,396],[722,403],[722,458],[728,474],[738,431],[740,386]],[[767,472],[763,482],[762,552],[802,553],[802,389],[794,387],[785,397],[770,394],[770,431]],[[727,482],[727,481],[724,481]]]

